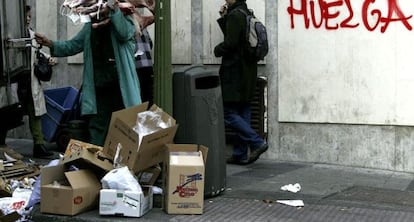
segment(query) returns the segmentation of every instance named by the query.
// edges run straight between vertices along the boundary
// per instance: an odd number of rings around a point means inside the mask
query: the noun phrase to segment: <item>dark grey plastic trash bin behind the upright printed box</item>
[[[178,69],[173,75],[175,143],[208,147],[204,196],[216,196],[226,187],[225,130],[220,78],[203,66]]]

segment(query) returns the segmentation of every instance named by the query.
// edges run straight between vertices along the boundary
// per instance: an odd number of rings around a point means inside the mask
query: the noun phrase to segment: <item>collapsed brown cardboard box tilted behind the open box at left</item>
[[[113,169],[113,163],[104,156],[102,152],[103,147],[85,144],[88,143],[71,139],[68,149],[71,149],[71,147],[78,148],[67,152],[68,154],[65,154],[60,162],[66,165],[74,165],[79,169],[90,169],[97,176],[103,177],[108,171]]]

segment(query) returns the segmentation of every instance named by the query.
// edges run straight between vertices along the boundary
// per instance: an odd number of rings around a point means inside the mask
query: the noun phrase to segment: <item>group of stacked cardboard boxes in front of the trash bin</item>
[[[170,121],[167,128],[138,135],[134,130],[137,114],[147,111],[147,106],[114,112],[104,147],[71,140],[58,165],[42,168],[42,213],[76,215],[99,209],[101,215],[141,217],[153,207],[152,185],[160,174],[167,213],[203,213],[207,147],[174,144],[178,125],[165,112],[161,118]],[[157,108],[153,105],[150,110]],[[119,144],[121,165],[139,178],[141,191],[102,189],[100,180],[114,169]]]

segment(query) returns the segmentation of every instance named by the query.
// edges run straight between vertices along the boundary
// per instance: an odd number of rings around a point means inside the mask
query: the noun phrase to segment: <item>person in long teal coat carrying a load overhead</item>
[[[51,41],[36,33],[36,41],[50,48],[54,57],[83,52],[81,115],[88,119],[89,142],[103,146],[112,112],[141,103],[135,70],[135,26],[131,16],[124,15],[118,1],[109,12],[105,25],[85,23],[75,37]]]

